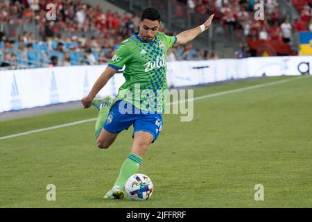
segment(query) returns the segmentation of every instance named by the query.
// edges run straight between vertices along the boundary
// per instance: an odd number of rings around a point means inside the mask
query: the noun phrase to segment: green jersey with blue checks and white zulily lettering
[[[166,103],[166,52],[177,37],[157,33],[153,42],[141,40],[138,33],[123,41],[108,66],[122,69],[125,83],[117,100],[123,99],[141,110],[164,112]]]

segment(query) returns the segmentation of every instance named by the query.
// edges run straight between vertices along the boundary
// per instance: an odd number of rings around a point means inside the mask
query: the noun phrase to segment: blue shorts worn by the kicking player
[[[125,109],[128,112],[125,112]],[[110,133],[120,133],[123,130],[128,130],[132,124],[134,128],[132,138],[135,132],[145,131],[153,136],[153,142],[155,142],[162,131],[162,114],[144,113],[132,103],[119,100],[112,106],[103,128]]]

